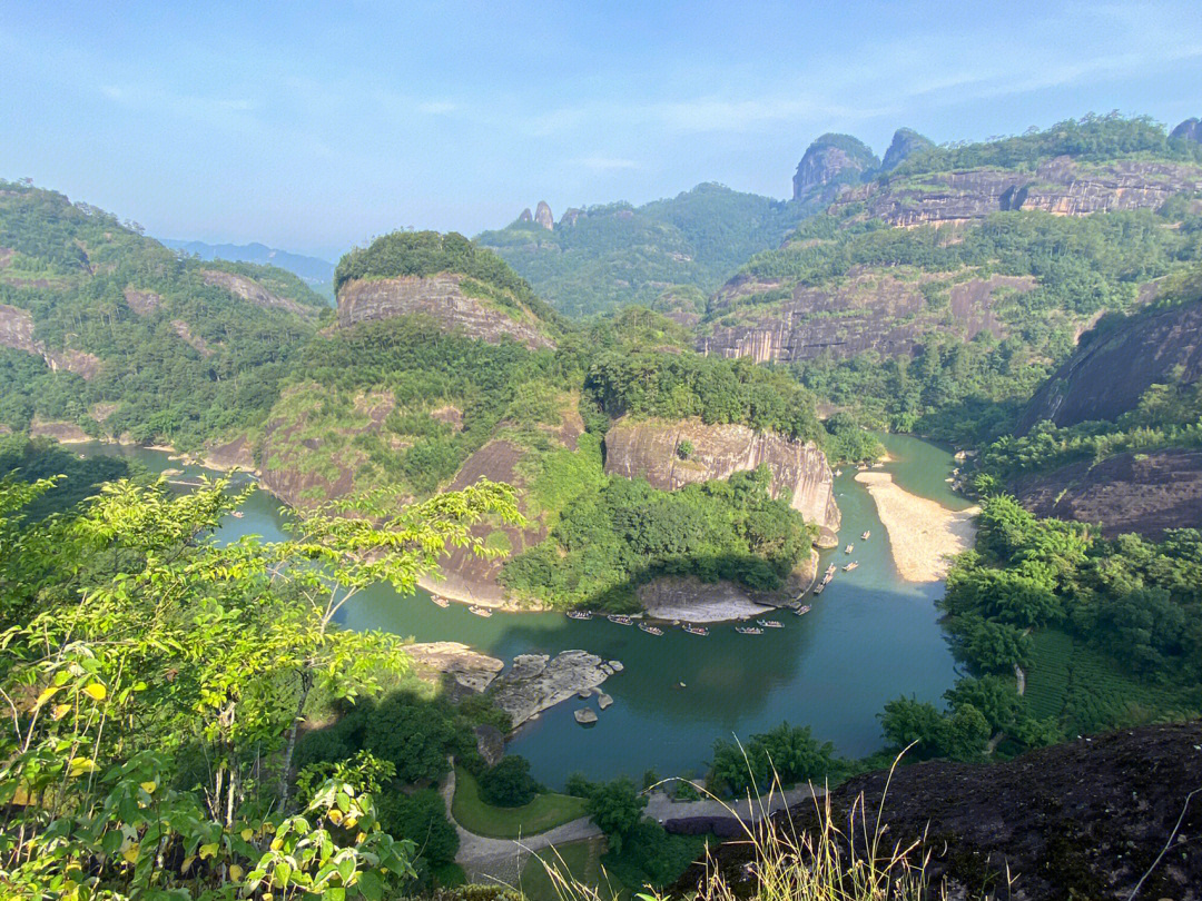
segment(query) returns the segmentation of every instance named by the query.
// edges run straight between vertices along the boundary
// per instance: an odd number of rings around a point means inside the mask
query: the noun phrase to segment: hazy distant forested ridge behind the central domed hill
[[[776,246],[808,211],[704,184],[637,208],[589,207],[552,231],[513,222],[476,241],[505,257],[561,312],[588,316],[650,306],[674,285],[714,291],[752,253]]]

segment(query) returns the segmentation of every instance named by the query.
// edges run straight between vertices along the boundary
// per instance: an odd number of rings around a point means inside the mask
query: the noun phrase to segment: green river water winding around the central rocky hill
[[[954,465],[947,450],[909,436],[883,441],[893,457],[885,469],[899,485],[951,507],[966,506],[945,482]],[[79,449],[133,457],[156,472],[179,466],[142,448]],[[553,788],[573,771],[591,778],[637,778],[647,769],[700,776],[716,738],[745,738],[786,720],[813,727],[815,736],[834,742],[843,754],[865,754],[882,744],[876,715],[886,702],[905,694],[939,703],[956,673],[934,604],[942,586],[902,581],[875,505],[853,476],[855,469],[845,467],[835,494],[843,512],[840,541],[853,542],[855,553],[849,557],[841,547],[823,551],[821,566],[856,559],[859,568],[840,572],[821,597],[809,601],[809,615],[769,614],[784,628],[762,636],[719,623],[708,638],[673,628],[656,638],[605,619],[579,622],[557,613],[482,619],[464,605],[442,609],[424,592],[401,597],[388,586],[361,593],[344,609],[343,621],[418,642],[464,642],[506,662],[518,654],[573,648],[621,661],[624,672],[605,684],[614,704],[595,726],[583,728],[572,717],[595,700],[572,699],[522,727],[510,742],[512,752],[530,760],[534,776]],[[222,526],[225,537],[280,537],[287,511],[270,495],[257,491],[243,511],[242,519]],[[871,537],[862,542],[865,529]]]

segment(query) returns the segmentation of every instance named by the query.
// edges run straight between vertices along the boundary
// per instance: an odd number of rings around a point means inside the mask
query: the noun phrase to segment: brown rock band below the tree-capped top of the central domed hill
[[[442,273],[430,278],[406,275],[397,279],[350,281],[338,292],[338,324],[343,328],[369,320],[406,314],[426,314],[445,329],[462,329],[469,338],[496,344],[504,335],[526,347],[554,347],[555,342],[537,327],[524,309],[500,310],[463,292],[463,276]]]

